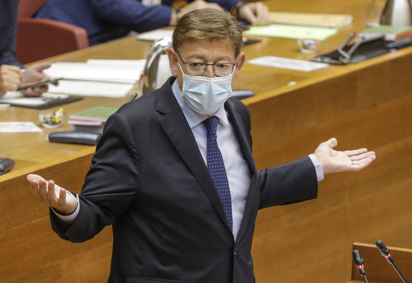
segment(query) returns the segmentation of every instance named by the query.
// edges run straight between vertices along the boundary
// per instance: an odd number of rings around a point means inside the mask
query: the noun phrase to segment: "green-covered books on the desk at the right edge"
[[[361,38],[384,37],[387,48],[402,48],[412,45],[412,26],[375,26],[358,34]]]

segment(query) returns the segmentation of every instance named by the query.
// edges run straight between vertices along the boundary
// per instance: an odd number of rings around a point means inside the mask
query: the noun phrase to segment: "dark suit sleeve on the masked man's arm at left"
[[[80,210],[73,224],[50,214],[53,230],[74,243],[93,238],[129,207],[139,181],[136,146],[126,120],[113,114],[107,120],[90,170],[79,195]]]

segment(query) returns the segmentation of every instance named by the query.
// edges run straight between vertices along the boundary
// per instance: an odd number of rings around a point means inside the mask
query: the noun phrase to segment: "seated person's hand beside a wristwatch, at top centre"
[[[239,9],[239,19],[248,21],[252,26],[267,25],[272,22],[269,8],[262,2],[250,2]]]

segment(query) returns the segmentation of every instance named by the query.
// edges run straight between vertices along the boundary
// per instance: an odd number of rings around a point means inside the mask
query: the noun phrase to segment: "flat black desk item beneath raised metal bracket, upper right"
[[[351,53],[350,62],[348,63],[358,63],[361,61],[365,61],[366,59],[370,59],[385,53],[390,52],[391,50],[387,48],[385,45],[387,41],[383,38],[377,38],[374,40],[365,40],[358,47]],[[348,52],[352,45],[347,45],[342,50],[344,52]],[[330,63],[330,64],[347,64],[344,62],[344,57],[339,51],[330,52],[327,54],[319,55],[312,58],[310,61],[315,62],[322,62],[322,63]]]

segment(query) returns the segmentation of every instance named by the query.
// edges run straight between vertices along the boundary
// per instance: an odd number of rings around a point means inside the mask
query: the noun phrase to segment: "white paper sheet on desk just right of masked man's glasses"
[[[246,61],[246,63],[304,72],[314,71],[329,66],[329,64],[326,63],[318,63],[275,56],[259,57],[248,60]]]

